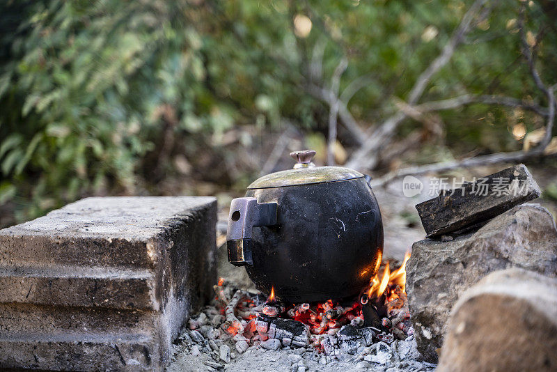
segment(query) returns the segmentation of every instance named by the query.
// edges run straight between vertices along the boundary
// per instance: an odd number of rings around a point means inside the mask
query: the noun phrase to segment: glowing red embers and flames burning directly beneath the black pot
[[[326,354],[334,353],[337,348],[327,336],[335,336],[343,327],[353,334],[366,329],[362,334],[377,341],[391,343],[394,339],[407,339],[414,332],[405,293],[408,258],[409,254],[392,272],[386,263],[361,295],[340,301],[285,304],[276,300],[274,288],[266,300],[244,290],[237,290],[228,300],[224,283],[219,281],[215,288],[217,303],[226,316],[221,329],[236,338],[243,336],[242,341],[252,345],[257,342],[274,345],[269,339],[275,339],[281,346],[311,346]],[[353,351],[348,344],[341,342],[338,348]],[[243,343],[237,346],[238,351],[242,346]]]

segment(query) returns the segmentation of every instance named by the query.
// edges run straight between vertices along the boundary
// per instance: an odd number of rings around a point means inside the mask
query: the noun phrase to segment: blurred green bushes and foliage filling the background
[[[322,164],[330,107],[311,87],[335,77],[358,124],[338,125],[344,164],[358,133],[400,109],[471,3],[3,1],[0,225],[91,195],[242,194],[303,147]],[[421,102],[497,94],[547,107],[521,56],[521,5],[540,76],[555,84],[555,2],[499,1]],[[404,148],[359,168],[520,150],[542,127],[519,107],[468,104],[406,118],[393,139]]]

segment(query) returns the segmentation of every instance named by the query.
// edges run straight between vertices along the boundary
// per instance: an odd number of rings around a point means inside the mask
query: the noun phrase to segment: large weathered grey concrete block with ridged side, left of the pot
[[[212,293],[212,197],[88,198],[0,231],[3,368],[158,371]]]

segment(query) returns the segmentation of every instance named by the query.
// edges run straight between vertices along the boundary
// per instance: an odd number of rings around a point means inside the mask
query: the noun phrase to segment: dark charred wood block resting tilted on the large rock
[[[540,196],[524,164],[464,183],[441,192],[437,198],[416,205],[427,238],[447,233],[464,233],[526,201]]]

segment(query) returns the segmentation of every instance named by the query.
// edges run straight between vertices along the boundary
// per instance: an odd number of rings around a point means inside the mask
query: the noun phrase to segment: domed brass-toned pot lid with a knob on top
[[[248,189],[267,189],[269,187],[285,187],[310,185],[361,178],[363,174],[342,166],[315,166],[311,159],[315,155],[313,150],[295,151],[290,154],[298,162],[294,169],[269,173],[253,181]]]

